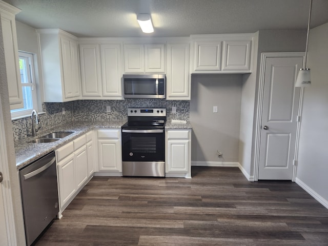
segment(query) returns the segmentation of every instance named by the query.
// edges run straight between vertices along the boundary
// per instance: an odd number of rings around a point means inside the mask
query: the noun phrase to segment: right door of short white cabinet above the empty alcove
[[[222,71],[251,72],[251,48],[251,40],[224,41]]]

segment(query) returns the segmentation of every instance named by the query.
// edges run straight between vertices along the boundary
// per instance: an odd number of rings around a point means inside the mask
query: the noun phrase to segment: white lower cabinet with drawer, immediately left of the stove
[[[100,129],[97,131],[97,138],[99,171],[114,172],[121,176],[122,154],[120,129]]]

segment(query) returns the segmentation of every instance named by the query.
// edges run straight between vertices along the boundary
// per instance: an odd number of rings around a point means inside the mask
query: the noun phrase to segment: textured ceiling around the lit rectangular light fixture
[[[310,0],[5,0],[35,28],[60,28],[77,37],[189,36],[306,29]],[[328,0],[313,0],[311,27],[328,22]],[[150,13],[144,34],[137,13]]]

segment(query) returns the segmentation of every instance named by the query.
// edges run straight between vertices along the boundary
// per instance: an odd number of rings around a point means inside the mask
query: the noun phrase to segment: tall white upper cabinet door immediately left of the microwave
[[[103,96],[113,97],[112,99],[123,99],[120,44],[100,45],[100,56]]]

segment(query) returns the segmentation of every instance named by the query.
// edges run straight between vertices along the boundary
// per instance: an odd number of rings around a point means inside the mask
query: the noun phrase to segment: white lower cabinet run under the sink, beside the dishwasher
[[[88,134],[56,150],[59,217],[93,175],[94,151],[93,147],[88,148],[92,146],[93,138],[90,140],[89,137],[87,143]]]

